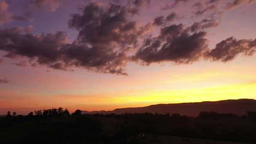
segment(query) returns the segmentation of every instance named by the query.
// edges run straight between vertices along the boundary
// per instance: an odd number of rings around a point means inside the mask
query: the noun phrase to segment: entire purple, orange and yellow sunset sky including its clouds
[[[0,114],[256,99],[256,0],[0,0]]]

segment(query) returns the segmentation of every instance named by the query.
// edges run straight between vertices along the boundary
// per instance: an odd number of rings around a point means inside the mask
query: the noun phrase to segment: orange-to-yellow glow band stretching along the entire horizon
[[[94,95],[51,95],[32,99],[31,96],[22,96],[0,100],[4,105],[2,108],[12,107],[35,110],[67,107],[71,111],[81,110],[113,110],[125,107],[144,107],[151,104],[168,104],[200,101],[219,101],[225,99],[256,99],[256,82],[241,84],[226,84],[207,86],[201,88],[186,88],[174,90],[151,90],[139,89],[136,91],[118,91],[117,93],[94,94]],[[12,103],[10,103],[12,101]],[[47,101],[47,102],[46,102]],[[26,109],[24,111],[27,112]]]

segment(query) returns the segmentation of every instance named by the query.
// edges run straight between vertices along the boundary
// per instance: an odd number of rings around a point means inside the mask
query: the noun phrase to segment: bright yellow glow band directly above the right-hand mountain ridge
[[[181,103],[218,101],[224,99],[256,99],[256,83],[219,85],[208,88],[190,88],[170,91],[141,91],[127,96],[116,96],[109,103]]]

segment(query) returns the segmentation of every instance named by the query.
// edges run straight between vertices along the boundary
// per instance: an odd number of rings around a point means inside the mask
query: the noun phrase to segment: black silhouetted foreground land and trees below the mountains
[[[0,117],[0,144],[256,143],[256,111],[251,110],[256,107],[255,100],[228,101],[251,101],[252,105],[245,103],[245,109],[240,103],[244,115],[241,111],[236,114],[203,109],[195,117],[175,112],[82,114],[76,110],[69,114],[63,108],[28,115],[8,112]]]

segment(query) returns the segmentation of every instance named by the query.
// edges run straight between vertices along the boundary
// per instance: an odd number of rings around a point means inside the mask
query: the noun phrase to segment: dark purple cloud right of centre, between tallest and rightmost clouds
[[[189,64],[201,58],[208,48],[206,32],[189,34],[183,24],[163,27],[158,37],[146,40],[133,59],[149,65],[153,62],[172,61],[176,64]]]

